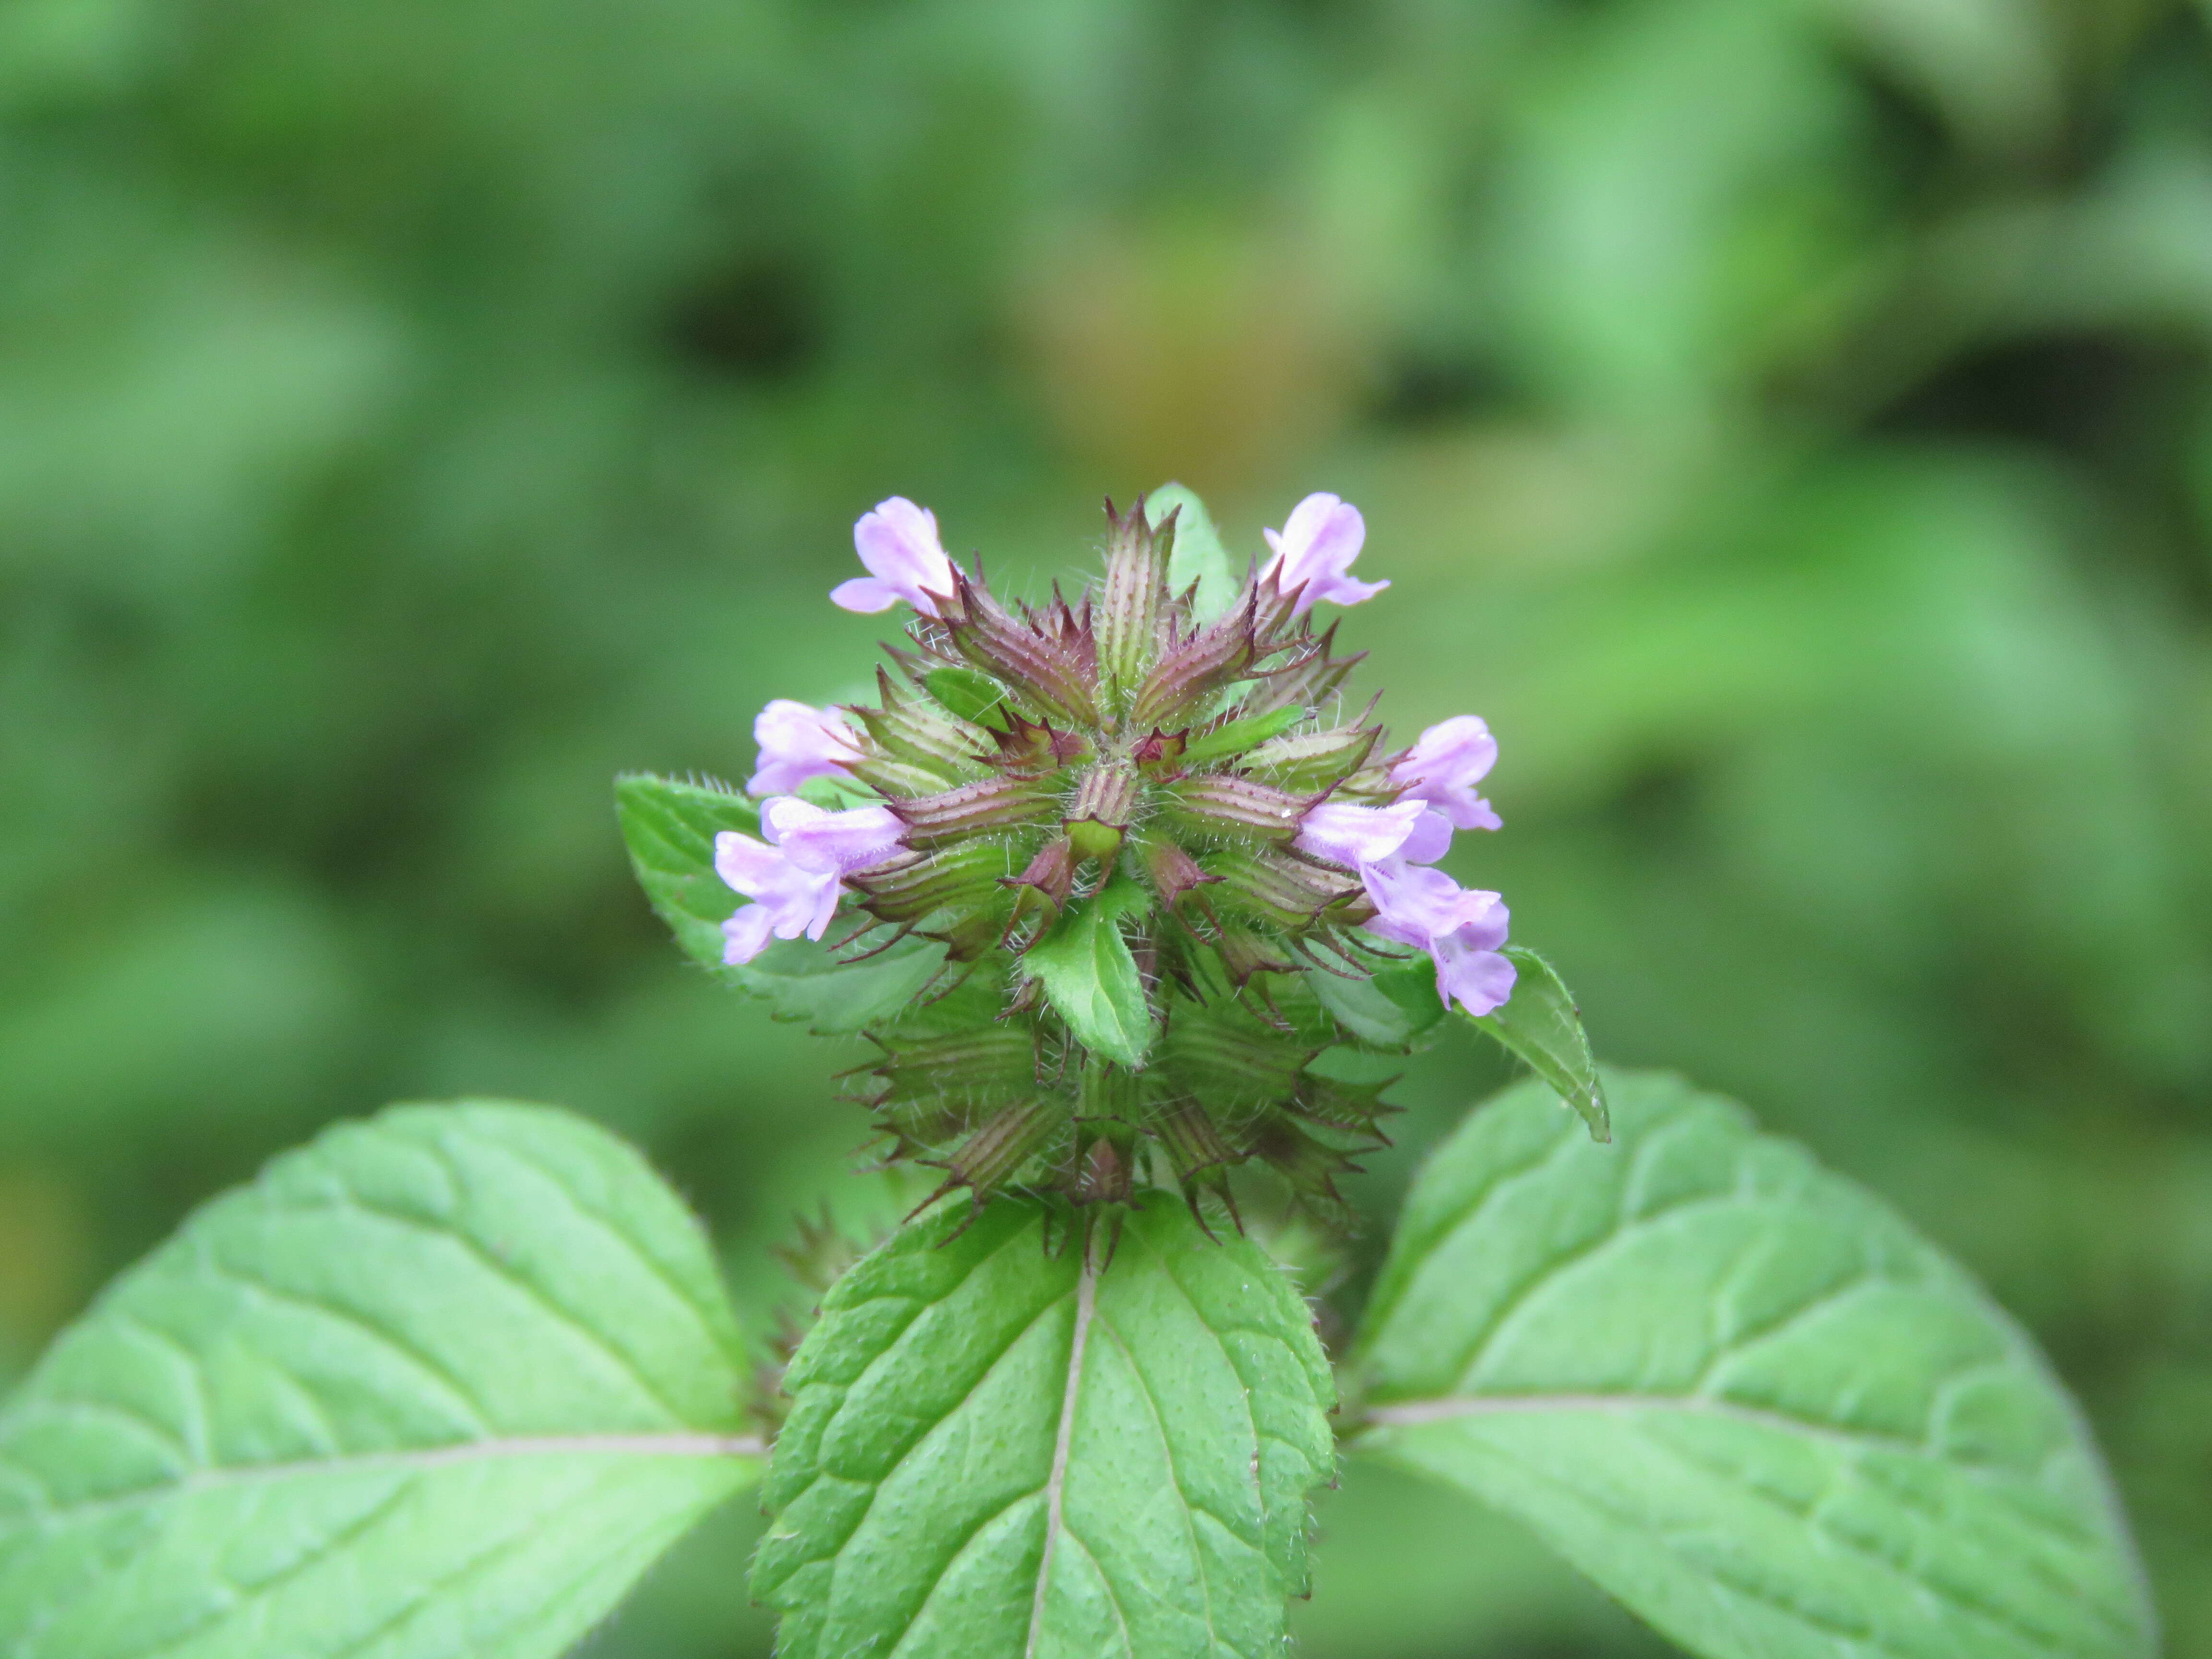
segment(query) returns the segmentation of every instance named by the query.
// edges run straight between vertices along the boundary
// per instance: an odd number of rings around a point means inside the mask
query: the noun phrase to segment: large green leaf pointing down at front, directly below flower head
[[[776,1652],[1276,1659],[1334,1464],[1305,1301],[1166,1194],[1104,1265],[1064,1210],[969,1217],[867,1256],[792,1363],[752,1568]]]

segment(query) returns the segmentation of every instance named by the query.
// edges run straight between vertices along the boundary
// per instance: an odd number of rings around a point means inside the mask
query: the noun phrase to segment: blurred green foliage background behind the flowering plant
[[[1601,1051],[1955,1248],[2212,1655],[2212,33],[2159,0],[0,0],[0,1374],[319,1124],[644,1139],[763,1325],[858,1057],[617,768],[1018,580],[1356,500],[1400,734]],[[1467,838],[1462,838],[1467,841]],[[1418,1062],[1411,1146],[1502,1077]],[[1374,1252],[1376,1239],[1360,1243]],[[593,1639],[765,1650],[737,1506]],[[1305,1652],[1659,1644],[1354,1471]]]

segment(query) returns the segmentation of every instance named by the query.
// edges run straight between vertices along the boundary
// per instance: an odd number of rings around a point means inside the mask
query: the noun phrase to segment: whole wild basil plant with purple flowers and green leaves
[[[1170,487],[1024,606],[927,511],[867,513],[832,597],[905,606],[876,699],[770,703],[745,792],[630,776],[619,812],[697,962],[865,1040],[883,1157],[933,1197],[779,1371],[606,1130],[338,1126],[0,1416],[0,1655],[557,1655],[761,1484],[785,1655],[1256,1659],[1347,1455],[1717,1659],[2148,1655],[2028,1338],[1736,1106],[1599,1077],[1500,896],[1438,867],[1498,830],[1498,748],[1347,701],[1321,617],[1383,586],[1363,535],[1310,495],[1239,575]],[[1453,1020],[1533,1077],[1431,1152],[1329,1354],[1265,1243],[1349,1228],[1376,1077]]]

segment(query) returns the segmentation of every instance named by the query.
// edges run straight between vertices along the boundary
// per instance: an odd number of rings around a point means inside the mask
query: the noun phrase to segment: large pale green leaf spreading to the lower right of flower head
[[[1947,1256],[1741,1108],[1613,1073],[1422,1170],[1365,1316],[1363,1453],[1526,1520],[1714,1659],[2137,1659],[2075,1405]]]

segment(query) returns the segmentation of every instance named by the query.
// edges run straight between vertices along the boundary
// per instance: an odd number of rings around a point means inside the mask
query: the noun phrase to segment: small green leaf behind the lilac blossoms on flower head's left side
[[[684,953],[723,984],[768,998],[779,1020],[823,1035],[863,1031],[911,1009],[945,967],[945,947],[918,938],[858,962],[838,962],[814,940],[776,940],[750,962],[723,964],[721,925],[745,900],[714,874],[714,836],[759,836],[759,805],[706,783],[630,774],[615,781],[615,810],[637,883]]]

